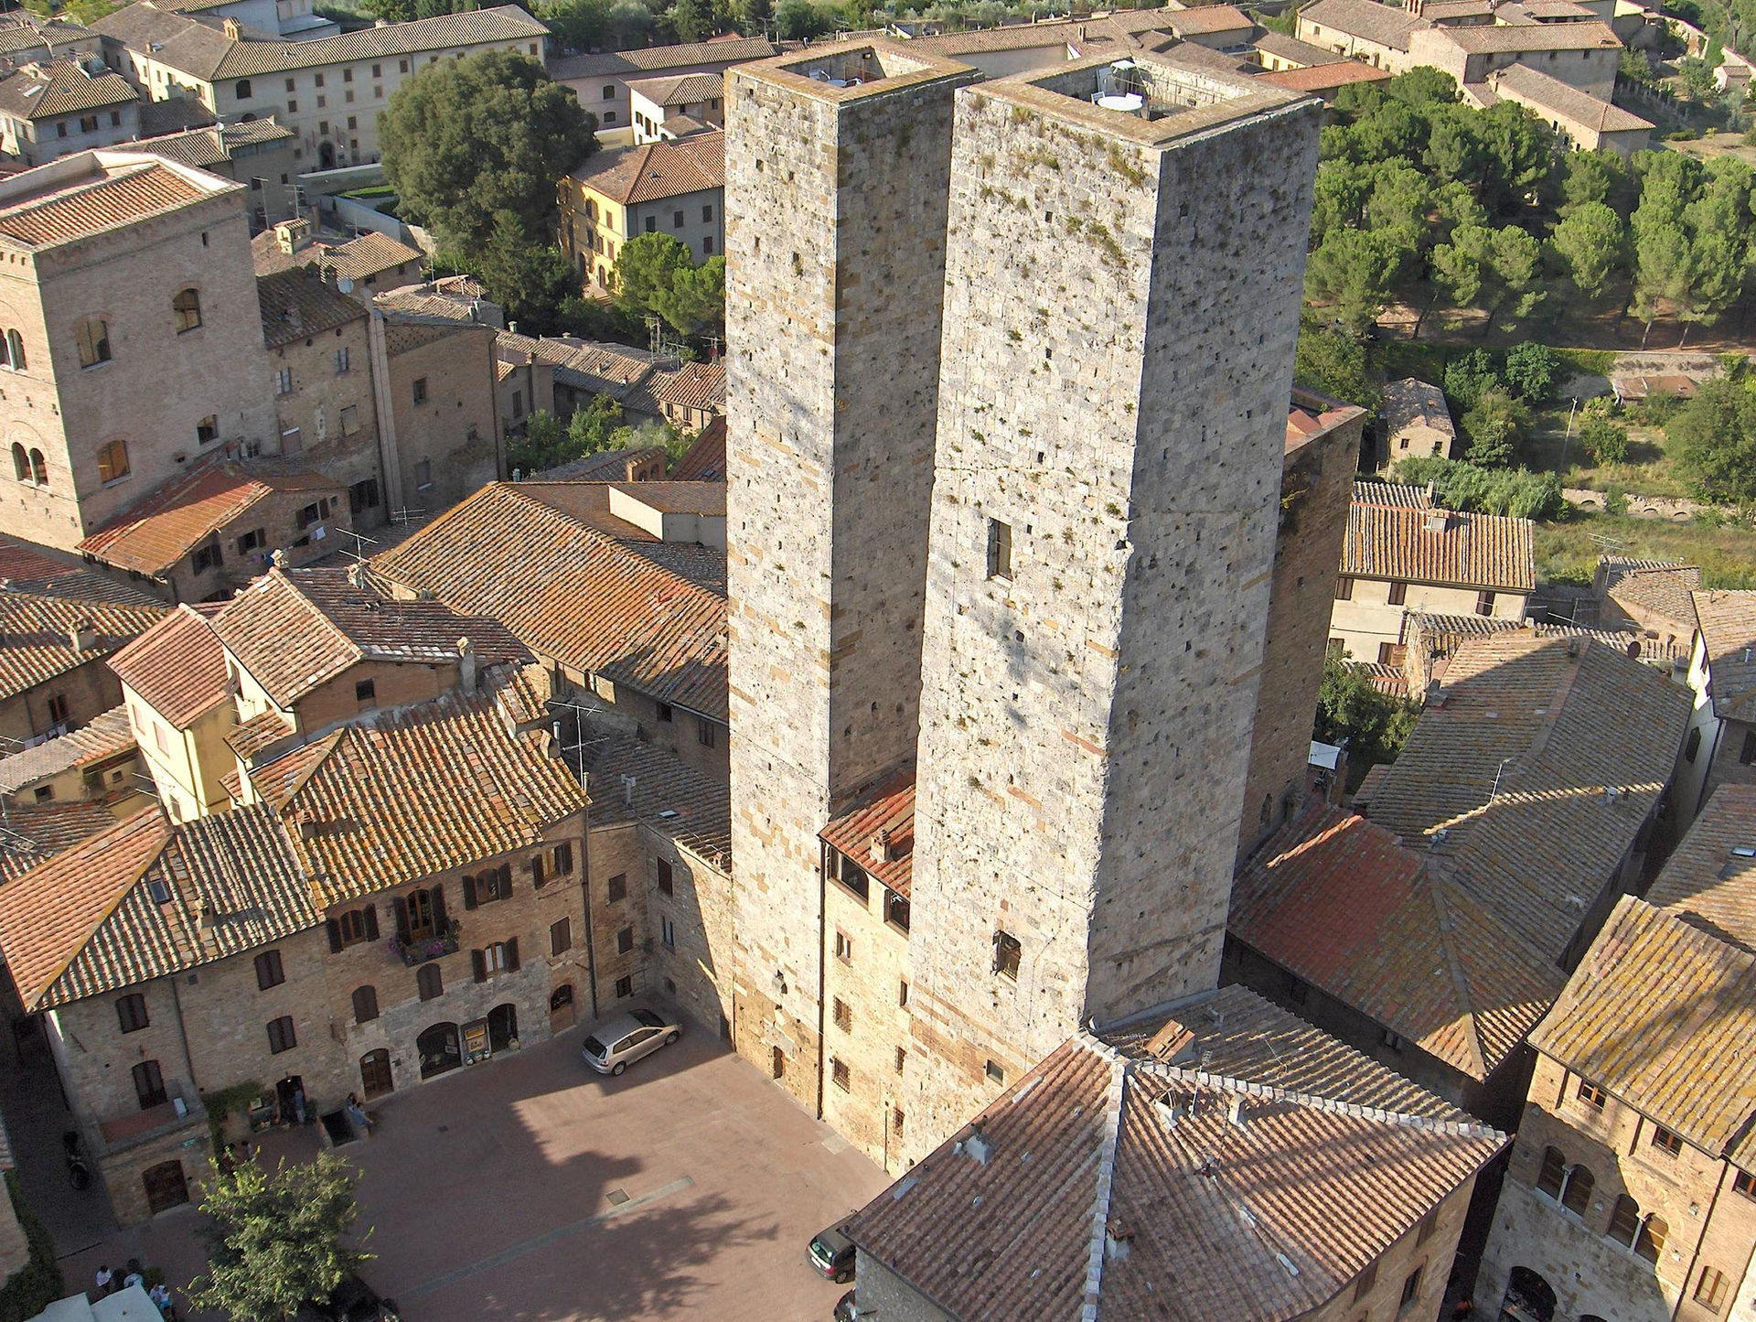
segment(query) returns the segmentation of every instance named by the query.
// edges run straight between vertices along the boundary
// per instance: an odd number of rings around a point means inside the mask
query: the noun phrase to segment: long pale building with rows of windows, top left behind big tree
[[[441,58],[515,51],[543,63],[548,28],[516,5],[283,40],[235,18],[202,21],[132,4],[91,25],[104,60],[146,100],[200,102],[223,121],[274,116],[300,170],[378,160],[378,116],[404,79]]]

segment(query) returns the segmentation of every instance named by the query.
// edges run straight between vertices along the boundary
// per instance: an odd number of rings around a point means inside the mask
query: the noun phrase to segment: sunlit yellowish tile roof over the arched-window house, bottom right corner
[[[1756,1164],[1752,1039],[1756,955],[1633,895],[1531,1034],[1544,1055],[1745,1169]]]

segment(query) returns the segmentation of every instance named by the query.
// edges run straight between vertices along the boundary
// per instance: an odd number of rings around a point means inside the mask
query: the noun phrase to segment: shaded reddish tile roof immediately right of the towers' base
[[[1428,873],[1389,830],[1322,802],[1240,873],[1227,930],[1326,995],[1486,1080],[1565,981],[1465,880]]]

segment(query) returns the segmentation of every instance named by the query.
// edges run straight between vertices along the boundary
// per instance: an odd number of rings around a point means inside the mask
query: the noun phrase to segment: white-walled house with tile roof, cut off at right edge
[[[1691,592],[1695,711],[1677,764],[1682,820],[1721,785],[1756,785],[1756,592]]]

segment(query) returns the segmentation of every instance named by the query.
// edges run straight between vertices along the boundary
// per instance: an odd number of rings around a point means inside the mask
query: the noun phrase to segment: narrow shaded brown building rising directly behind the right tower
[[[1238,864],[1305,799],[1329,604],[1366,414],[1294,386],[1280,460],[1280,527],[1263,678],[1250,723]]]

